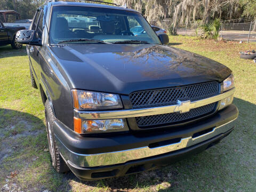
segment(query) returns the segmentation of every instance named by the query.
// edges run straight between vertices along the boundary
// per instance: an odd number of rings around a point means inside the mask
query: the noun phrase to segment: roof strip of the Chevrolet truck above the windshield
[[[90,7],[101,7],[106,9],[116,9],[116,10],[124,10],[124,11],[133,11],[138,12],[133,9],[127,9],[123,6],[113,6],[113,5],[105,5],[105,4],[97,4],[97,3],[83,3],[83,2],[70,2],[70,1],[52,1],[53,6],[58,5],[69,5],[69,6],[90,6]],[[104,2],[102,2],[104,3]]]

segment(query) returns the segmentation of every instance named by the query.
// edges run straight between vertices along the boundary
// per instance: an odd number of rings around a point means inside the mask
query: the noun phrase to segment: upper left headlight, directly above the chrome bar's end
[[[117,94],[82,90],[72,90],[72,94],[76,109],[99,110],[123,108],[122,101]]]

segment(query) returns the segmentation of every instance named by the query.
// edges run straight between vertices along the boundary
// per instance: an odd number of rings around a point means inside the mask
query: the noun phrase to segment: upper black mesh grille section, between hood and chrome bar
[[[219,93],[219,83],[209,82],[182,87],[172,87],[159,90],[138,91],[131,93],[133,108],[148,108],[175,105],[177,100],[196,101],[213,97]]]

